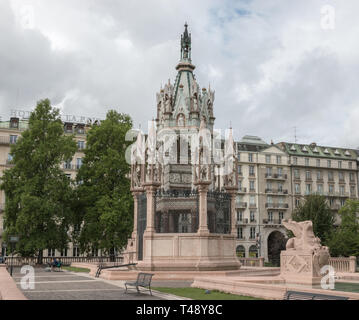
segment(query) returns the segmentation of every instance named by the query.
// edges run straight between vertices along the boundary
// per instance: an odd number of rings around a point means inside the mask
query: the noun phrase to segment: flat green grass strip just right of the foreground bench
[[[254,297],[239,296],[237,294],[230,294],[220,292],[217,290],[210,290],[210,293],[206,294],[205,289],[199,288],[153,288],[164,293],[174,294],[180,297],[186,297],[194,300],[262,300]]]

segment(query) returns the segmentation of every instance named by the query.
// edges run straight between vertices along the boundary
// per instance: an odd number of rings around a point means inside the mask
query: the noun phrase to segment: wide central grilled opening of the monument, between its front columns
[[[195,190],[158,190],[155,195],[157,233],[195,233],[198,230],[198,193]]]

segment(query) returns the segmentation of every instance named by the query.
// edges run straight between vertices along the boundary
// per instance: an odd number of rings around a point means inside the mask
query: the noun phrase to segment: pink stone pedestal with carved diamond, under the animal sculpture
[[[320,269],[329,263],[328,260],[329,252],[326,249],[282,251],[280,275],[286,283],[320,284],[323,277]]]

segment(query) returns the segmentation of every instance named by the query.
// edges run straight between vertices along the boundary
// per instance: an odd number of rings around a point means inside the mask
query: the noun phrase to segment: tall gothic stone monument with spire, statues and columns
[[[213,130],[214,91],[197,84],[187,24],[176,69],[148,136],[139,132],[132,148],[127,252],[140,270],[236,270],[234,142],[231,130],[224,145]]]

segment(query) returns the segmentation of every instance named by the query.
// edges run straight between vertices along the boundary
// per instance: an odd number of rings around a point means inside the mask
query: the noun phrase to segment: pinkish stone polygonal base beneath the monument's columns
[[[219,234],[154,233],[143,238],[143,271],[238,270],[235,237]]]

